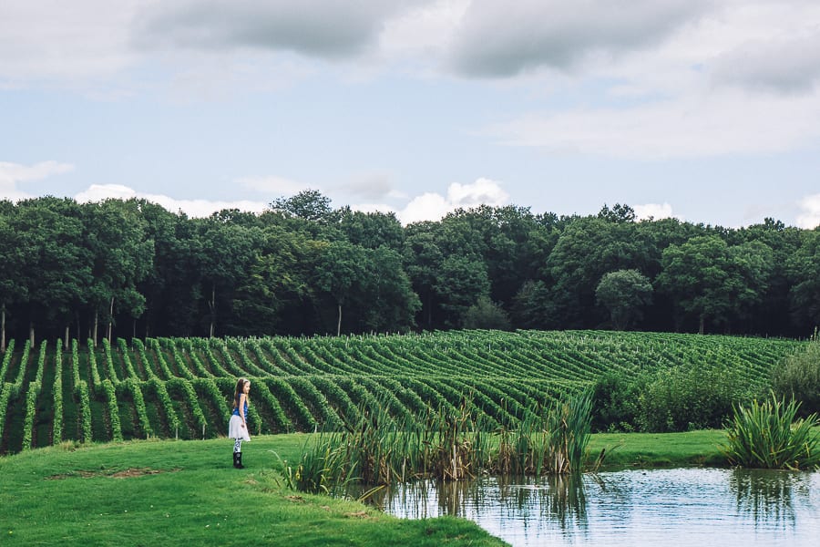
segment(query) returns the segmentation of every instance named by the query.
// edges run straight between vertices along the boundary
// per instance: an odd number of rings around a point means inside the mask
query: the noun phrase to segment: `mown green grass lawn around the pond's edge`
[[[472,522],[399,520],[355,501],[287,490],[278,459],[303,434],[232,441],[131,441],[0,458],[3,545],[504,545]],[[606,467],[719,465],[723,431],[598,434]],[[611,450],[611,453],[610,453]]]

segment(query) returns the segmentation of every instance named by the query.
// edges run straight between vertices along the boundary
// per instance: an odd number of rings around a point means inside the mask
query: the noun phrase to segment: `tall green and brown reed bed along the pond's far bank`
[[[567,475],[582,470],[591,395],[532,408],[516,429],[488,430],[470,397],[396,421],[387,406],[362,407],[343,431],[311,435],[294,464],[281,461],[294,490],[342,494],[351,483],[395,484],[420,478],[458,481],[479,474]]]

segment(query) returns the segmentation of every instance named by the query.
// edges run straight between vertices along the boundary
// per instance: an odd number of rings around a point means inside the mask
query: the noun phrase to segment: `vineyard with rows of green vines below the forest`
[[[609,371],[709,366],[764,386],[800,344],[600,331],[135,338],[97,348],[72,340],[67,350],[12,341],[0,364],[0,453],[65,440],[225,436],[237,377],[251,378],[256,434],[339,428],[377,405],[408,418],[465,399],[478,423],[510,428]]]

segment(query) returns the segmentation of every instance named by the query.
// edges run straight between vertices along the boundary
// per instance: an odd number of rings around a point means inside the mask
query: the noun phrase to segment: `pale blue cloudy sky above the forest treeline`
[[[2,0],[0,199],[820,225],[816,0]]]

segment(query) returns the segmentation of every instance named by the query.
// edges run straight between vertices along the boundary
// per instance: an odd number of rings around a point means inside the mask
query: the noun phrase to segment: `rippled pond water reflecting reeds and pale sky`
[[[820,547],[820,472],[624,470],[418,481],[374,495],[408,519],[456,515],[512,545]]]

